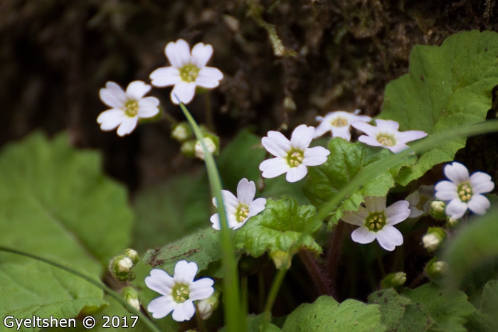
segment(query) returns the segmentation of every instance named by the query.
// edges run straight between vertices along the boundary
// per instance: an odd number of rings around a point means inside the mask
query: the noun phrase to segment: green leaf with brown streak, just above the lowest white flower
[[[210,263],[221,259],[219,232],[213,227],[202,228],[169,245],[156,250],[148,250],[143,260],[145,264],[154,268],[164,269],[171,276],[174,274],[176,262],[182,259],[196,262],[198,271],[201,272],[207,269]],[[210,274],[210,277],[222,277],[219,273],[221,272]]]

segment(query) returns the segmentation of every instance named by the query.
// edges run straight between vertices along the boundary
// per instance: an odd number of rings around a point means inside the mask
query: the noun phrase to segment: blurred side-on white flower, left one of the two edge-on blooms
[[[351,133],[349,129],[351,124],[356,121],[370,122],[372,119],[366,115],[358,115],[359,112],[359,109],[356,109],[352,114],[344,111],[336,111],[330,112],[325,117],[317,117],[317,121],[322,123],[314,129],[314,138],[322,136],[326,132],[332,132],[332,136],[342,137],[346,141],[350,141]]]

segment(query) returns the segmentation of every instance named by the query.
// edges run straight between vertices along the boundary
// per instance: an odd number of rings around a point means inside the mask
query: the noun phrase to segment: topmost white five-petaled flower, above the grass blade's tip
[[[157,68],[151,73],[150,79],[155,87],[174,85],[171,90],[171,102],[176,105],[179,104],[178,99],[184,104],[189,104],[194,98],[197,86],[212,89],[217,87],[223,78],[223,73],[218,68],[206,67],[213,55],[211,45],[197,43],[190,53],[189,44],[179,39],[176,43],[168,43],[164,53],[171,66]]]

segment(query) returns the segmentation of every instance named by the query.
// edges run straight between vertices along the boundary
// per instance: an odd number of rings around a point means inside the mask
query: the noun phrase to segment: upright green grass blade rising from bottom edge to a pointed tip
[[[208,170],[209,185],[211,186],[211,193],[215,196],[218,202],[218,213],[220,216],[221,224],[221,250],[222,250],[222,268],[223,268],[223,304],[226,318],[227,331],[247,331],[247,320],[245,312],[240,302],[240,289],[238,280],[237,264],[235,263],[235,249],[232,243],[232,234],[228,229],[228,220],[226,216],[225,204],[221,196],[221,179],[213,155],[209,153],[206,143],[203,139],[201,129],[198,127],[196,120],[186,109],[183,103],[180,103],[181,111],[194,130],[194,134],[198,141],[201,142],[204,151],[204,160],[206,161],[206,168]]]

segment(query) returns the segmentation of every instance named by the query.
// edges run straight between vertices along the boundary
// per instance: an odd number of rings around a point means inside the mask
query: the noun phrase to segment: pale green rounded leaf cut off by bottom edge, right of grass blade
[[[313,304],[298,306],[282,331],[386,331],[386,326],[376,304],[351,299],[339,304],[330,296],[320,296]]]

